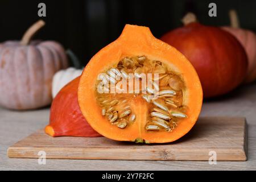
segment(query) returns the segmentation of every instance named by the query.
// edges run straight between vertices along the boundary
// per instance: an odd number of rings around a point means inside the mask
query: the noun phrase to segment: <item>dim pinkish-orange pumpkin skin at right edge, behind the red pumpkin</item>
[[[249,30],[233,27],[222,27],[234,35],[245,48],[248,57],[248,70],[245,82],[252,82],[256,79],[256,35]]]

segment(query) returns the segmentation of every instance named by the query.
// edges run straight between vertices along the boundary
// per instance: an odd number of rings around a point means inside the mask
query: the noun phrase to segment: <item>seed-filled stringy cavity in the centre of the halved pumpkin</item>
[[[140,55],[123,57],[101,73],[95,92],[102,117],[119,129],[146,119],[147,132],[170,132],[187,118],[185,88],[170,65]]]

